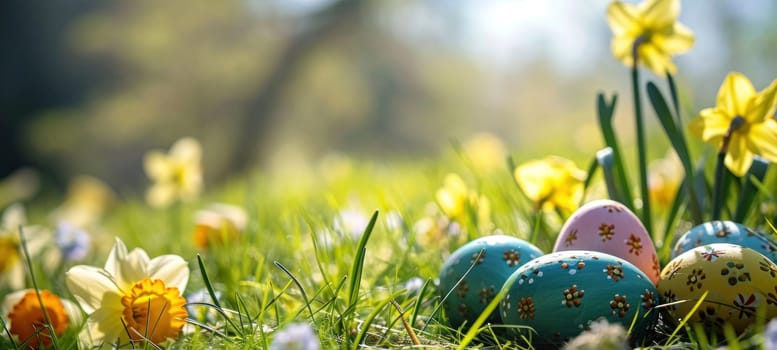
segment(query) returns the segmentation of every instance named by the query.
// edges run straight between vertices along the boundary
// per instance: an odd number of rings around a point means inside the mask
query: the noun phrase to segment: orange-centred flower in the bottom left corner
[[[48,290],[41,290],[40,297],[57,336],[67,327],[81,323],[81,310],[72,301],[60,299]],[[6,318],[8,331],[17,343],[23,344],[22,348],[48,348],[52,344],[41,301],[34,289],[20,290],[3,299],[2,315]]]

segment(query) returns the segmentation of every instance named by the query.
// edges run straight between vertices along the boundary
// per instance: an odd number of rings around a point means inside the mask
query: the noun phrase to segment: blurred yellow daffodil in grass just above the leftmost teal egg
[[[475,191],[470,191],[464,180],[456,174],[445,176],[444,185],[437,190],[437,204],[449,218],[466,223],[470,213],[479,223],[490,222],[491,205],[488,199]]]

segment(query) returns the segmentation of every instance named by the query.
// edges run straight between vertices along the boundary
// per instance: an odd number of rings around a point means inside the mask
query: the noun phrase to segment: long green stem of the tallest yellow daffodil
[[[642,197],[642,224],[647,232],[652,231],[650,217],[650,193],[647,180],[647,146],[645,142],[645,122],[642,118],[642,99],[639,93],[639,68],[637,55],[634,55],[634,67],[631,68],[631,87],[634,93],[634,124],[637,132],[637,162],[639,166],[639,188]]]

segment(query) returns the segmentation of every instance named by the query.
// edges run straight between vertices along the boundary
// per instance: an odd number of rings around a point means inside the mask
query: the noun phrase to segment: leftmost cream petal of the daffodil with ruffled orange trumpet
[[[93,266],[72,267],[65,273],[65,285],[87,314],[104,308],[106,302],[121,299],[120,291],[107,271]]]

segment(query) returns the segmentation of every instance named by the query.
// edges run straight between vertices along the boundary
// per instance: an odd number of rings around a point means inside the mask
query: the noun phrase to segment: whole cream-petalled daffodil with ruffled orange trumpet
[[[187,316],[182,293],[188,280],[181,257],[149,259],[140,248],[127,252],[118,238],[105,268],[78,265],[65,274],[68,290],[88,314],[82,340],[104,347],[177,338]]]

